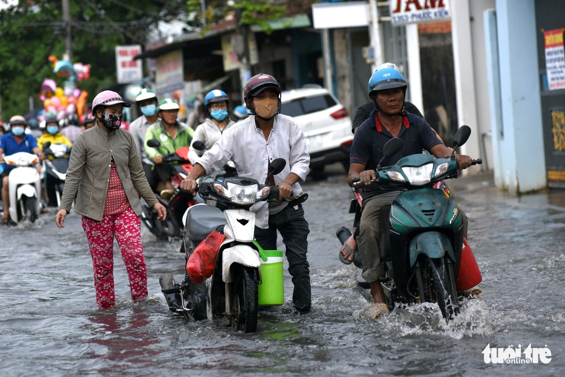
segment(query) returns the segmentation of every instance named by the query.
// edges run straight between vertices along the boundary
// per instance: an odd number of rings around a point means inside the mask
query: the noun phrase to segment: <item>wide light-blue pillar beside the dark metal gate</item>
[[[497,185],[526,193],[547,187],[534,0],[497,0],[503,138]]]

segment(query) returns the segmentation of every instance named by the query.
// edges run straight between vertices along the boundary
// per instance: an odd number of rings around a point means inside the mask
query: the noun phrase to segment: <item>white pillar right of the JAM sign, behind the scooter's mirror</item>
[[[466,124],[472,130],[469,141],[461,148],[461,153],[477,158],[481,155],[481,133],[477,124],[475,102],[475,73],[469,0],[458,0],[451,7],[451,37],[453,40],[455,95],[457,96],[457,123],[459,127]],[[468,173],[473,170],[479,171],[480,167],[470,167],[463,172]]]

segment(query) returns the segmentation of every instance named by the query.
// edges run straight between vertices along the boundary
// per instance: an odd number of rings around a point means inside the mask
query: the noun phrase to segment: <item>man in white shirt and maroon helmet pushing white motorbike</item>
[[[280,85],[271,75],[259,73],[251,77],[245,84],[244,100],[253,115],[225,130],[182,181],[181,189],[195,194],[195,180],[228,161],[235,164],[239,176],[253,177],[262,183],[267,178],[268,164],[275,158],[284,158],[284,170],[270,184],[279,186],[280,199],[301,195],[298,182],[304,181],[310,171],[310,155],[302,129],[292,118],[280,114],[280,96]],[[306,252],[310,229],[302,205],[290,202],[278,213],[270,214],[267,203],[259,202],[251,210],[257,214],[255,239],[263,249],[276,250],[277,230],[281,233],[294,284],[294,307],[300,314],[309,313],[310,265]]]

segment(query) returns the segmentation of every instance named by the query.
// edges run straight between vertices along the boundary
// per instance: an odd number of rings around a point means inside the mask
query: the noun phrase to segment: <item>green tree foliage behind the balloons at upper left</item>
[[[145,44],[158,21],[184,18],[186,0],[70,0],[73,63],[91,64],[90,78],[79,81],[89,101],[116,81],[115,46]],[[47,58],[65,51],[61,0],[19,0],[0,11],[0,98],[3,119],[29,111],[44,79],[53,73]]]

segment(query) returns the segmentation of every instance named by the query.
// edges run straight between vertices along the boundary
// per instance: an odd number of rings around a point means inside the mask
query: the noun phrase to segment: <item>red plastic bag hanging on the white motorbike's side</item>
[[[216,256],[224,239],[225,235],[214,231],[196,246],[186,262],[186,272],[193,283],[202,284],[206,278],[212,276]]]

